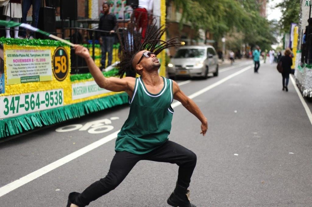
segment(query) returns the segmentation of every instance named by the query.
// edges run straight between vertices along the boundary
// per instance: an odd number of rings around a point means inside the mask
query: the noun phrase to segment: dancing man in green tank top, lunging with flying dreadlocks
[[[151,37],[160,37],[166,28],[157,30]],[[106,90],[125,91],[129,95],[130,112],[128,119],[118,133],[115,145],[116,154],[110,164],[106,177],[87,187],[82,193],[72,192],[68,197],[69,207],[84,207],[91,201],[114,190],[140,160],[176,163],[179,166],[178,180],[167,203],[171,206],[196,207],[189,201],[187,189],[196,165],[196,154],[191,150],[168,140],[171,130],[173,108],[171,103],[176,99],[193,113],[201,122],[201,134],[207,131],[207,119],[194,101],[188,98],[175,81],[158,74],[160,62],[156,55],[170,46],[177,46],[178,41],[171,39],[157,42],[147,37],[139,51],[123,51],[119,63],[119,75],[122,77],[127,69],[135,70],[138,78],[124,77],[105,78],[90,57],[87,48],[75,45],[77,55],[85,58],[95,82]],[[141,39],[134,34],[134,44],[141,44]],[[134,48],[137,48],[134,45]],[[147,48],[147,49],[146,49]],[[116,204],[115,204],[116,205]],[[117,205],[118,206],[118,205]],[[152,205],[153,206],[153,205]]]

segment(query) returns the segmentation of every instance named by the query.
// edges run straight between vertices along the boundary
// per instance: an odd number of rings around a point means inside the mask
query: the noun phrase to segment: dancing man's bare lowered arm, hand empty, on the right
[[[176,99],[177,101],[181,102],[181,104],[188,109],[189,112],[193,113],[199,121],[202,122],[201,129],[202,132],[200,132],[203,136],[205,136],[206,131],[208,129],[208,122],[207,118],[202,114],[201,110],[195,104],[195,102],[188,98],[183,91],[180,89],[179,85],[173,81],[173,98]]]

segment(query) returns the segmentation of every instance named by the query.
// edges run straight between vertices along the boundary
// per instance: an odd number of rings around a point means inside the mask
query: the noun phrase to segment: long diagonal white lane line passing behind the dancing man
[[[206,88],[202,89],[202,90],[199,90],[197,91],[196,93],[194,94],[191,94],[190,96],[188,96],[189,98],[193,99],[194,97],[222,84],[223,82],[241,74],[242,72],[248,70],[249,68],[251,68],[253,66],[248,66],[248,67],[245,67],[243,68],[242,70],[240,71],[237,71],[236,73],[233,73],[232,75],[229,75],[223,79],[221,79],[220,81],[212,84],[212,85],[209,85],[207,86]],[[179,106],[181,103],[180,102],[175,102],[173,104],[171,104],[172,108],[175,108],[177,106]],[[108,136],[105,136],[104,138],[100,139],[100,140],[97,140],[95,142],[93,142],[92,144],[90,145],[87,145],[83,148],[81,148],[80,150],[77,150],[76,152],[73,152],[59,160],[56,160],[55,162],[51,163],[51,164],[48,164],[46,165],[45,167],[43,168],[40,168],[38,170],[36,170],[35,172],[32,172],[24,177],[21,177],[20,179],[16,180],[16,181],[13,181],[3,187],[0,188],[0,197],[2,195],[5,195],[15,189],[17,189],[18,187],[22,186],[22,185],[25,185],[26,183],[28,182],[31,182],[32,180],[62,166],[63,164],[66,164],[68,162],[70,162],[71,160],[73,159],[76,159],[77,157],[80,157],[81,155],[87,153],[87,152],[90,152],[91,150],[94,150],[95,148],[101,146],[101,145],[104,145],[106,142],[109,142],[110,140],[113,140],[117,137],[117,134],[119,133],[120,130],[118,131],[115,131],[114,133],[108,135]]]

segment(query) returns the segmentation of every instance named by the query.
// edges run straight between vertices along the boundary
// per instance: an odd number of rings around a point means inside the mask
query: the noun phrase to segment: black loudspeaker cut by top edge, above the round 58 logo
[[[61,0],[61,19],[78,19],[77,0]]]

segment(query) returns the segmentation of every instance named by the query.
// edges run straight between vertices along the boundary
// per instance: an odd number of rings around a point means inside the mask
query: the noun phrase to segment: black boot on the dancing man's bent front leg
[[[196,205],[190,202],[190,191],[187,188],[178,185],[178,183],[169,196],[167,203],[175,207],[196,207]]]

